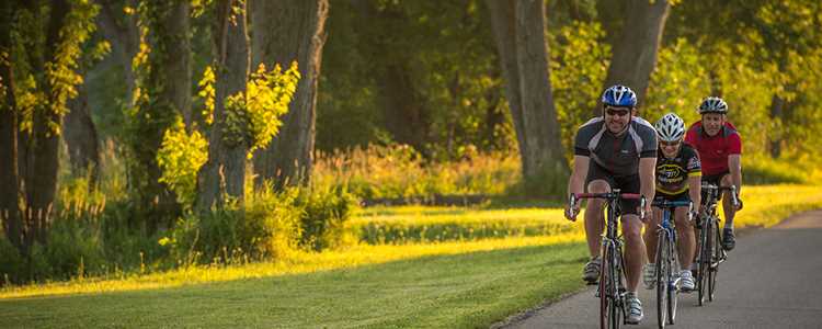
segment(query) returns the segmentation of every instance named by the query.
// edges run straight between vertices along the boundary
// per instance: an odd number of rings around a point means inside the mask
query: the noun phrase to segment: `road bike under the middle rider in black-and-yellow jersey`
[[[674,324],[680,295],[680,253],[674,220],[671,217],[674,209],[681,206],[688,207],[690,216],[694,204],[689,201],[658,198],[652,205],[662,209],[662,220],[657,226],[657,319],[659,327],[665,328],[666,324]]]

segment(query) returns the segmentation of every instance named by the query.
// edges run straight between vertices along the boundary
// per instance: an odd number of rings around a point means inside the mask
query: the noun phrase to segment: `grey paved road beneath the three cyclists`
[[[680,295],[670,328],[822,328],[822,211],[795,215],[769,229],[737,239],[720,266],[717,295],[696,306]],[[657,328],[654,291],[642,290],[646,318],[632,328]],[[594,291],[564,298],[505,328],[596,328]]]

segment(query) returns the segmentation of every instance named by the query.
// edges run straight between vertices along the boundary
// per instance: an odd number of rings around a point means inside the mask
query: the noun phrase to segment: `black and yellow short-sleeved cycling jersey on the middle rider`
[[[680,194],[688,190],[688,177],[703,175],[699,156],[696,150],[683,143],[680,152],[667,158],[662,148],[657,151],[657,192],[667,195]]]

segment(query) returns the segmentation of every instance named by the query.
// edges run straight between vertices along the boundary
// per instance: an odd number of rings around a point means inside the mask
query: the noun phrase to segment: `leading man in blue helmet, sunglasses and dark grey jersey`
[[[573,172],[568,192],[607,193],[619,189],[625,193],[641,193],[653,200],[653,169],[657,163],[657,132],[647,121],[635,116],[637,95],[627,87],[614,86],[602,97],[603,116],[583,124],[574,141]],[[602,200],[590,200],[585,207],[585,236],[591,261],[585,264],[583,280],[594,283],[600,276],[600,247],[605,226]],[[647,216],[651,203],[646,206]],[[625,237],[626,294],[628,315],[626,321],[638,324],[642,319],[642,304],[637,298],[637,286],[644,262],[642,223],[637,216],[639,202],[621,201],[623,236]],[[574,220],[580,205],[569,205],[566,217]]]

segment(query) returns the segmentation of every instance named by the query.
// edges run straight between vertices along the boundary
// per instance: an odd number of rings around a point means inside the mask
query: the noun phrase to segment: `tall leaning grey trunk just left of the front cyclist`
[[[559,193],[568,164],[560,143],[545,43],[544,1],[488,0],[529,195]],[[538,190],[543,191],[538,191]]]

